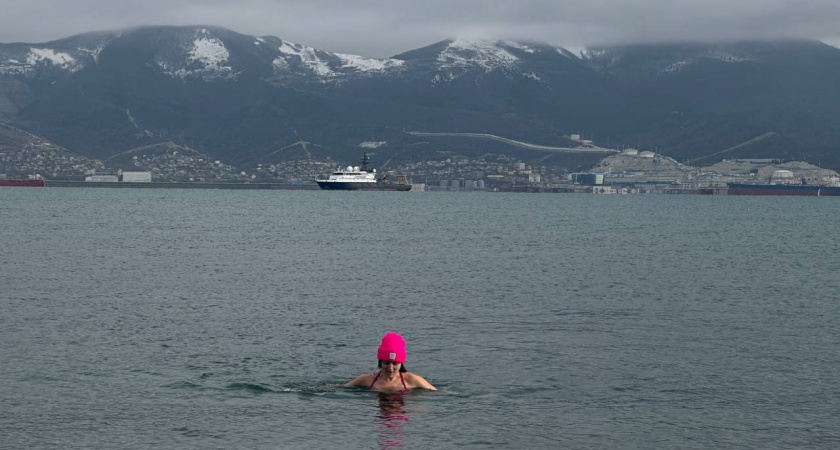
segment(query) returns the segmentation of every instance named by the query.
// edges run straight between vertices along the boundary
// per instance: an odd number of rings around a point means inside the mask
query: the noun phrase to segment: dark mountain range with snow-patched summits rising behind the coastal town
[[[570,50],[452,39],[376,59],[155,26],[0,44],[0,122],[113,167],[173,145],[242,168],[357,161],[372,146],[389,161],[504,153],[577,170],[604,156],[586,152],[592,141],[698,165],[840,169],[839,80],[840,49],[810,40]]]

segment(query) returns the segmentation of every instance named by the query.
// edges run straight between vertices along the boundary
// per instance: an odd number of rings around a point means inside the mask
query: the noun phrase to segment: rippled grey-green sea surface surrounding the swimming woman
[[[0,189],[0,448],[840,447],[840,200]],[[437,392],[342,385],[386,331]]]

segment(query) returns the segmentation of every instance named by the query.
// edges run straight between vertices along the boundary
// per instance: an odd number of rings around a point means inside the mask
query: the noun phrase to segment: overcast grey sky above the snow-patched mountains
[[[840,0],[0,0],[0,42],[138,25],[218,25],[392,56],[453,37],[567,47],[807,37],[840,42]]]

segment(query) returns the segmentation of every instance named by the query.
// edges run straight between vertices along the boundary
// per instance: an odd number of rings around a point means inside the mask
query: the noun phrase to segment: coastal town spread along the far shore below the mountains
[[[360,149],[360,154],[362,150]],[[300,159],[257,164],[242,170],[183,147],[130,157],[129,169],[114,169],[37,140],[21,148],[0,148],[0,179],[40,177],[54,183],[212,183],[265,184],[275,188],[317,188],[316,179],[355,161]],[[124,165],[125,166],[125,165]],[[439,159],[382,167],[380,173],[405,175],[413,191],[515,191],[594,193],[714,193],[728,183],[801,183],[837,186],[838,174],[802,161],[724,159],[689,166],[653,151],[625,149],[603,158],[588,171],[569,172],[553,165],[532,165],[504,154],[466,157],[455,152]],[[773,178],[775,177],[775,180]]]

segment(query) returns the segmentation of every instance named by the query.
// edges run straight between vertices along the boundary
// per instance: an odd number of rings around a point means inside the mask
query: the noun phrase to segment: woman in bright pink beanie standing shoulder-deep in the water
[[[409,392],[414,388],[436,391],[425,378],[405,369],[405,339],[397,333],[385,333],[376,352],[379,370],[363,373],[345,386],[367,386],[371,391]]]

